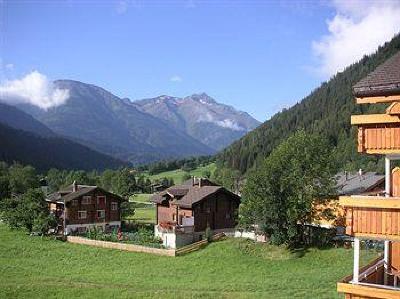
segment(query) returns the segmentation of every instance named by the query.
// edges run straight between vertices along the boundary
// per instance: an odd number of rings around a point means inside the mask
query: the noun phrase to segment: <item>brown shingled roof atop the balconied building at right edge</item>
[[[353,86],[358,97],[400,94],[400,51]]]

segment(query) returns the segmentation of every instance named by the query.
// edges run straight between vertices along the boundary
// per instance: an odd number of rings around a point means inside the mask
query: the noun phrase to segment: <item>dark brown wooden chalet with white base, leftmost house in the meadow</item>
[[[70,234],[96,227],[106,230],[121,226],[120,196],[97,186],[78,185],[50,194],[46,201],[58,220],[58,232]]]

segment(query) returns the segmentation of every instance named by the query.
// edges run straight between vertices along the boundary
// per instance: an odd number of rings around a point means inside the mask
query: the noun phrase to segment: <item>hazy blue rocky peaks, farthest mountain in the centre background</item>
[[[205,93],[185,98],[160,96],[134,103],[215,150],[223,149],[260,124],[249,114],[217,103]]]

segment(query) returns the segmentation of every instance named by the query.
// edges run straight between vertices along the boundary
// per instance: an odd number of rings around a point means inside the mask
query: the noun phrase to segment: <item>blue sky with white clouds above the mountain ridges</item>
[[[72,79],[265,121],[399,31],[400,1],[0,0],[0,96],[47,109]]]

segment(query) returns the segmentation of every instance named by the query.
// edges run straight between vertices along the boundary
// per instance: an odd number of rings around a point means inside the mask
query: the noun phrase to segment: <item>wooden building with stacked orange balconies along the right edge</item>
[[[353,87],[358,104],[387,103],[386,113],[354,115],[358,151],[385,156],[385,191],[375,195],[341,196],[346,233],[354,237],[353,274],[338,283],[347,299],[400,298],[400,52]],[[360,241],[384,242],[384,254],[359,267]]]

